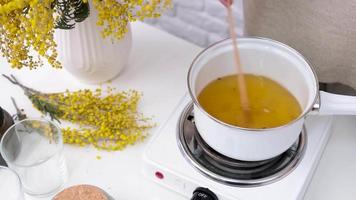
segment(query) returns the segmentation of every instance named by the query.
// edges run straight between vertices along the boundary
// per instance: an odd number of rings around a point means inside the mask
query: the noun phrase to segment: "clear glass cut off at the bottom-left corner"
[[[0,198],[6,200],[24,200],[19,176],[13,170],[0,166]]]

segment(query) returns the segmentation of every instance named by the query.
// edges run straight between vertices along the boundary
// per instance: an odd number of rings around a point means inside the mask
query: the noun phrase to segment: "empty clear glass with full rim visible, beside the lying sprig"
[[[61,130],[43,119],[25,119],[12,125],[1,140],[0,151],[29,195],[47,196],[67,179]]]

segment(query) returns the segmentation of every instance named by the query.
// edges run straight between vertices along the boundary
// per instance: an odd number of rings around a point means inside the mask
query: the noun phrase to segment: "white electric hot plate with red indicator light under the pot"
[[[331,129],[331,116],[309,116],[299,139],[282,155],[237,161],[201,139],[186,95],[148,144],[144,173],[188,199],[197,188],[208,189],[219,200],[302,199]]]

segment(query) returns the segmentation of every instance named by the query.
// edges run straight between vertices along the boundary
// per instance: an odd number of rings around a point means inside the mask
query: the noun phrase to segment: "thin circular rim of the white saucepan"
[[[308,61],[308,59],[306,59],[301,53],[299,53],[297,50],[295,50],[294,48],[282,43],[282,42],[278,42],[276,40],[270,39],[270,38],[264,38],[264,37],[239,37],[237,40],[241,41],[241,40],[262,40],[262,41],[267,41],[267,42],[272,42],[275,43],[277,45],[280,45],[284,48],[287,48],[288,50],[290,50],[292,53],[296,54],[297,56],[301,57],[309,66],[310,70],[313,73],[313,77],[314,77],[314,81],[315,81],[315,93],[314,93],[314,99],[312,101],[312,103],[309,105],[309,107],[307,107],[306,109],[304,109],[303,114],[299,115],[299,117],[297,117],[296,119],[288,122],[287,124],[283,124],[281,126],[277,126],[277,127],[272,127],[272,128],[265,128],[265,129],[258,129],[258,128],[245,128],[245,127],[239,127],[239,126],[235,126],[235,125],[231,125],[228,124],[226,122],[223,122],[217,118],[215,118],[214,116],[210,115],[208,112],[206,112],[202,106],[200,105],[199,101],[197,100],[196,96],[193,94],[192,88],[191,88],[191,81],[190,81],[190,77],[192,74],[192,70],[197,62],[197,60],[204,55],[209,49],[225,42],[228,40],[231,40],[231,38],[226,38],[223,40],[220,40],[218,42],[215,42],[211,45],[209,45],[208,47],[206,47],[204,50],[202,50],[194,59],[193,62],[190,64],[189,67],[189,71],[188,71],[188,75],[187,75],[187,84],[188,84],[188,91],[189,91],[189,95],[191,97],[191,99],[193,100],[194,105],[201,111],[203,112],[203,114],[205,114],[206,116],[208,116],[210,119],[214,120],[215,122],[217,122],[218,124],[221,124],[223,126],[229,127],[229,128],[233,128],[233,129],[237,129],[237,130],[244,130],[244,131],[273,131],[273,130],[278,130],[284,127],[287,127],[291,124],[294,124],[295,122],[299,121],[300,119],[304,118],[310,111],[312,111],[314,109],[314,106],[317,104],[318,102],[318,97],[319,97],[319,81],[318,81],[318,77],[316,75],[316,72],[314,70],[314,67],[312,66],[312,64]]]

